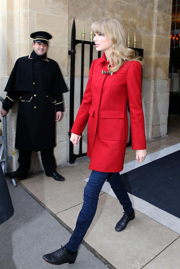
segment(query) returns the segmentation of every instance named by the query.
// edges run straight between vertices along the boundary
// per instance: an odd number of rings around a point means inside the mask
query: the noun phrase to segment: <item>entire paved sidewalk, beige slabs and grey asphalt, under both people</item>
[[[171,136],[148,141],[148,153],[165,148],[168,152],[168,147],[179,143],[179,133],[172,131]],[[134,158],[135,152],[128,148],[125,163]],[[73,165],[59,167],[57,171],[65,177],[64,182],[46,177],[44,172],[31,174],[20,182],[46,210],[21,186],[13,188],[9,184],[15,216],[0,226],[3,234],[3,242],[0,243],[1,269],[55,268],[41,257],[65,244],[70,236],[68,230],[74,229],[83,203],[85,179],[91,173],[88,165],[89,159],[85,157]],[[117,199],[101,191],[95,218],[75,264],[57,268],[180,269],[180,234],[139,209],[135,210],[136,218],[127,228],[117,233],[114,227],[122,211]]]

